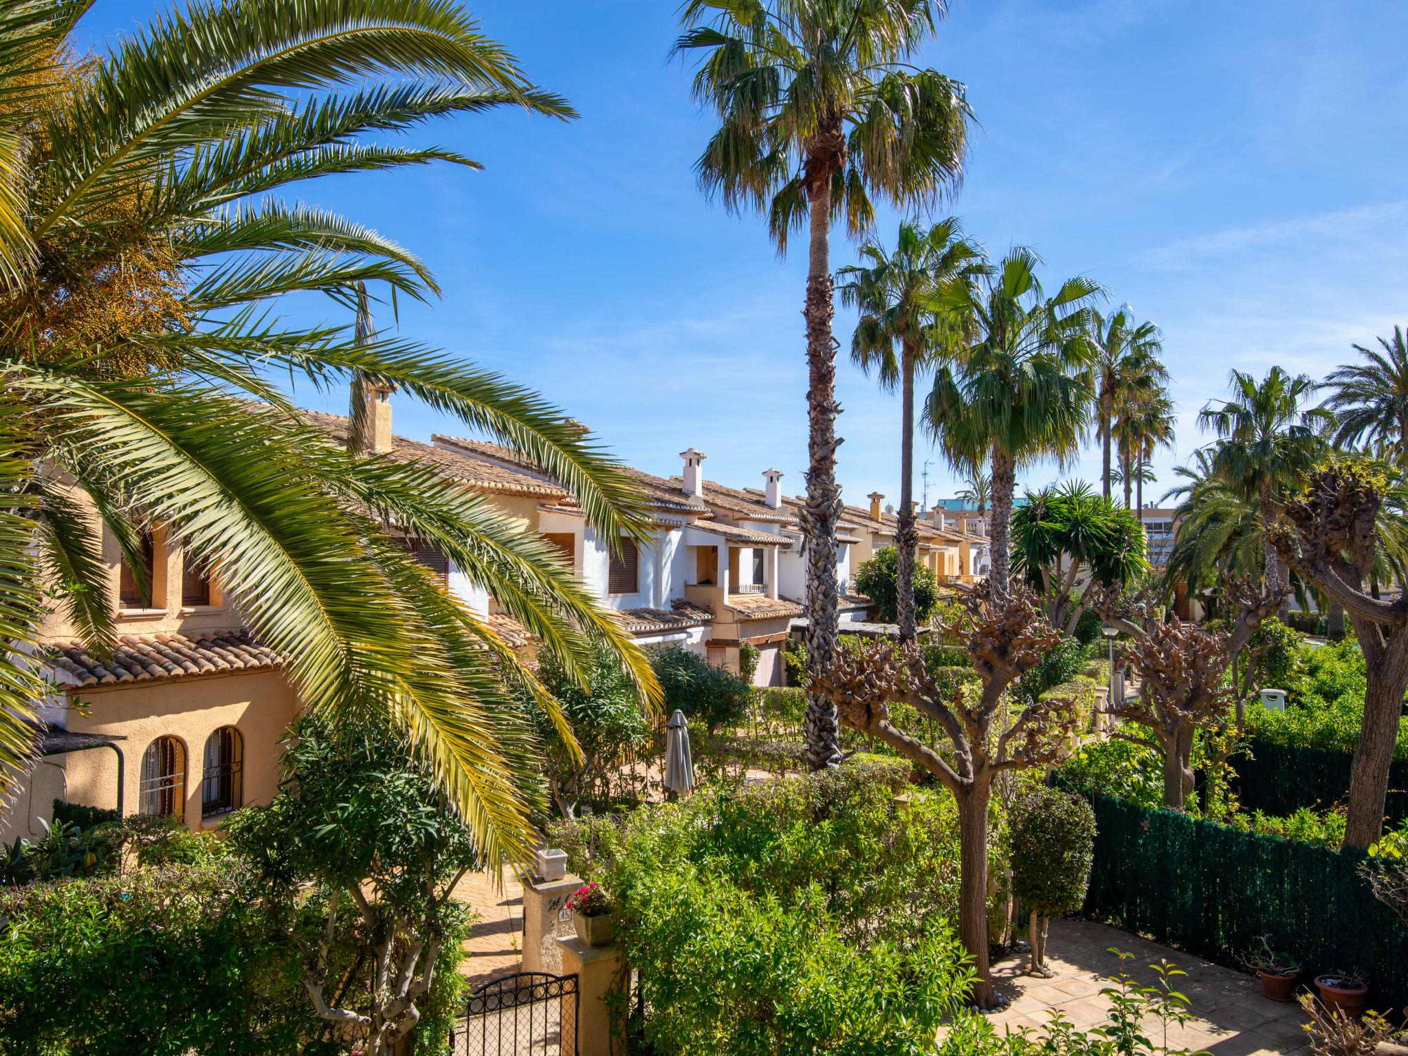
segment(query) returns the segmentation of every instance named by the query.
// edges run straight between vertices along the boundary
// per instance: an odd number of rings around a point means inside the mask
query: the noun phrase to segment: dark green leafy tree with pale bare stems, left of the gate
[[[308,712],[283,765],[279,796],[237,811],[228,838],[282,908],[317,1014],[383,1056],[420,1021],[441,953],[463,938],[452,893],[480,865],[474,839],[414,743],[383,722],[334,728]],[[365,1004],[332,970],[345,914],[372,977]]]

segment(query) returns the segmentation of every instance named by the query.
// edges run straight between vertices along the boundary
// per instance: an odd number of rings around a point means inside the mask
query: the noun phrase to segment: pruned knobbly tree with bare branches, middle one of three
[[[1097,591],[1093,603],[1101,617],[1129,634],[1135,642],[1121,658],[1139,677],[1139,696],[1111,703],[1108,714],[1140,727],[1115,727],[1111,736],[1132,741],[1159,753],[1163,760],[1163,805],[1183,810],[1193,793],[1193,741],[1200,729],[1226,729],[1232,719],[1236,691],[1224,677],[1238,653],[1276,612],[1280,590],[1247,582],[1224,589],[1236,611],[1228,632],[1205,631],[1166,617],[1150,591],[1121,598]],[[1240,717],[1240,715],[1239,715]]]

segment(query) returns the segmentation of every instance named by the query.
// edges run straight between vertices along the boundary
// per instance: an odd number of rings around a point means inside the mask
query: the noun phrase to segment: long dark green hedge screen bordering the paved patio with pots
[[[1224,964],[1269,935],[1274,949],[1301,962],[1302,981],[1359,969],[1371,1007],[1408,1002],[1408,929],[1359,876],[1362,852],[1090,798],[1090,915]]]

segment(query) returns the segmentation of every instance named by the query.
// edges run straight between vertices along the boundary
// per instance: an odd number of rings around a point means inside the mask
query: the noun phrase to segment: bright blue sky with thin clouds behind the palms
[[[460,149],[434,168],[298,189],[420,253],[445,298],[404,306],[400,332],[541,390],[642,469],[804,487],[805,256],[779,259],[755,217],[705,201],[691,165],[710,118],[669,59],[674,4],[470,4],[570,124],[517,113],[410,139]],[[99,45],[149,6],[100,0]],[[1000,255],[1035,248],[1052,282],[1090,275],[1164,329],[1181,424],[1169,467],[1205,441],[1194,417],[1232,367],[1321,376],[1408,322],[1408,4],[1300,0],[956,0],[921,58],[969,84],[980,121],[963,217]],[[898,217],[881,210],[893,241]],[[853,246],[834,241],[835,265]],[[287,306],[298,318],[329,301]],[[383,313],[383,324],[390,324]],[[849,345],[852,318],[838,313]],[[845,355],[842,356],[845,360]],[[898,408],[843,362],[846,496],[898,493]],[[300,393],[322,407],[313,391]],[[331,408],[342,410],[337,398]],[[462,432],[401,400],[397,432]],[[921,439],[929,498],[953,477]],[[1070,476],[1094,480],[1091,449]],[[1025,483],[1062,476],[1046,466]]]

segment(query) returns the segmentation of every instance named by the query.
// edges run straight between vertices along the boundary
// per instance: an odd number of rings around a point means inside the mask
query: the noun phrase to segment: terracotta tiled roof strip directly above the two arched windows
[[[122,635],[107,660],[77,642],[54,642],[48,650],[45,660],[58,674],[59,683],[77,689],[279,666],[277,655],[256,645],[244,631],[211,631],[190,636]]]

